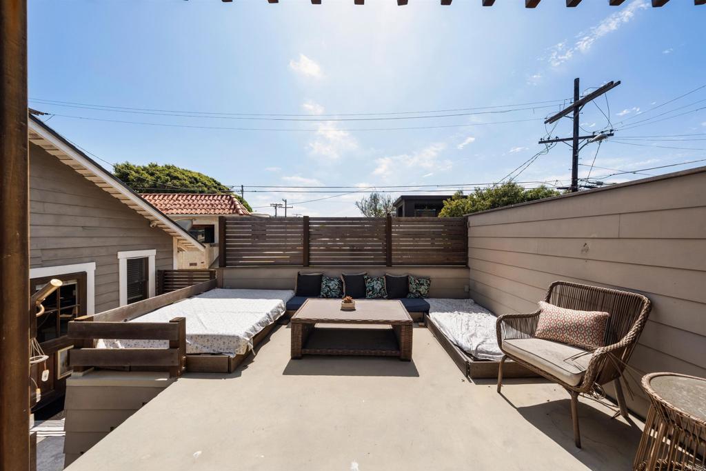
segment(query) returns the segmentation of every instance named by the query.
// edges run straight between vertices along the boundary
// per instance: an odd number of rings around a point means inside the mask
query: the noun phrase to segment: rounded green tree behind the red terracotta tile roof
[[[113,174],[138,193],[228,193],[243,203],[247,210],[253,210],[242,196],[233,193],[220,181],[176,165],[122,162],[113,167]]]

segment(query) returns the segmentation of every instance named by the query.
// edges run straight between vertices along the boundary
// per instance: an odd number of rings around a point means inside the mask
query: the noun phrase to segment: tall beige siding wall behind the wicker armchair
[[[504,314],[555,280],[640,292],[653,308],[629,374],[706,376],[706,169],[675,175],[469,216],[471,297]]]

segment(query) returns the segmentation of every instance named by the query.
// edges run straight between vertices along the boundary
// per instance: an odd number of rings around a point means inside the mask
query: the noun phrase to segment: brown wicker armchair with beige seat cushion
[[[602,287],[580,285],[578,283],[556,281],[549,286],[545,302],[567,309],[581,311],[604,311],[610,314],[606,326],[605,347],[599,347],[592,352],[578,350],[574,357],[567,357],[566,363],[570,364],[570,374],[554,374],[551,367],[544,368],[537,364],[542,362],[528,362],[518,358],[506,349],[513,346],[511,340],[534,339],[539,321],[539,310],[531,314],[505,314],[498,317],[496,332],[498,345],[503,352],[498,371],[498,393],[503,386],[503,363],[505,359],[513,359],[527,369],[558,383],[565,388],[571,396],[571,419],[573,420],[574,440],[576,446],[581,448],[581,438],[578,427],[578,395],[589,393],[597,387],[614,381],[618,406],[623,417],[628,417],[628,408],[620,383],[623,369],[633,353],[633,348],[638,342],[642,328],[645,327],[647,316],[650,314],[650,300],[641,294],[609,290]],[[510,340],[510,342],[507,342]],[[506,342],[503,345],[503,342]],[[542,342],[539,340],[539,342]],[[563,347],[563,344],[555,344]],[[551,345],[550,345],[551,346]],[[566,346],[567,349],[573,347]],[[511,349],[514,352],[517,350]],[[530,352],[531,353],[531,352]],[[542,353],[539,353],[541,357]],[[548,371],[549,370],[549,371]],[[559,378],[558,376],[562,376]]]

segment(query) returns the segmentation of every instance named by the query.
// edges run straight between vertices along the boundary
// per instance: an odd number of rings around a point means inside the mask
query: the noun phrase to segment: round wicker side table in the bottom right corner
[[[642,378],[650,398],[635,471],[706,471],[706,378],[652,373]]]

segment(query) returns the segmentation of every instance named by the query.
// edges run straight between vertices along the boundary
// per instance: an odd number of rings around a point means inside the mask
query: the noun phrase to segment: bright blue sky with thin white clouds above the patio
[[[597,144],[587,145],[582,164],[595,156],[597,167],[643,169],[706,158],[699,150],[706,148],[706,109],[691,112],[706,106],[700,101],[706,88],[650,111],[706,85],[706,7],[693,1],[651,8],[648,0],[621,7],[586,0],[566,8],[563,1],[545,0],[535,9],[520,0],[500,0],[492,8],[479,0],[451,6],[409,0],[404,7],[394,0],[365,6],[352,0],[28,3],[30,98],[131,108],[31,101],[55,114],[47,124],[107,162],[172,163],[245,185],[246,199],[256,207],[288,198],[292,213],[358,215],[354,201],[366,193],[301,203],[338,193],[265,193],[252,186],[369,191],[498,181],[543,148],[537,144],[546,133],[542,118],[572,95],[575,77],[582,91],[622,81],[607,103],[597,100],[601,109],[585,107],[581,124],[587,131],[609,127],[604,113],[616,129],[636,126],[616,133],[626,139],[606,141],[597,154]],[[528,102],[549,103],[518,105]],[[497,108],[467,109],[477,107]],[[448,109],[465,110],[342,116]],[[469,114],[508,109],[517,110]],[[238,114],[322,121],[236,119]],[[438,114],[460,116],[359,120]],[[341,118],[357,120],[323,121]],[[425,129],[390,130],[401,127]],[[570,131],[563,119],[552,134]],[[682,134],[694,136],[652,137]],[[588,168],[581,167],[580,176]],[[570,148],[560,144],[517,181],[568,184],[568,177]],[[448,187],[448,193],[467,187]],[[354,190],[340,193],[345,191]]]

